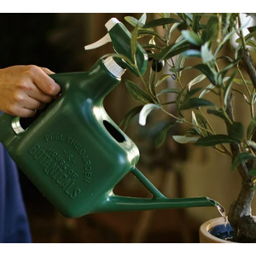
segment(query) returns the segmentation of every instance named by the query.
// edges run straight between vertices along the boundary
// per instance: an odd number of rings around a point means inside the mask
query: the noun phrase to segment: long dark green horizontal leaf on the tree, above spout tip
[[[211,135],[208,137],[201,137],[196,145],[198,146],[204,146],[204,147],[213,147],[218,144],[224,144],[224,143],[239,143],[238,140],[234,139],[233,137],[229,137],[225,134],[219,134],[219,135]]]

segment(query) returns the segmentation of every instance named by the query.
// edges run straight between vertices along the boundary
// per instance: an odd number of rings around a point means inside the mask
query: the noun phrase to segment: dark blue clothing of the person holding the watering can
[[[0,143],[0,242],[31,241],[17,167]]]

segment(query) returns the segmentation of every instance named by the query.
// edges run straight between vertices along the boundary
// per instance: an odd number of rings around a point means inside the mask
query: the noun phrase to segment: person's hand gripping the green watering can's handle
[[[0,69],[0,109],[15,116],[34,116],[60,93],[60,86],[49,77],[51,73],[35,65]]]

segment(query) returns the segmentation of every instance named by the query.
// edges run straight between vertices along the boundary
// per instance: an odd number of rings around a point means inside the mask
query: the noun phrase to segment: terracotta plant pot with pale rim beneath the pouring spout
[[[211,230],[213,227],[217,225],[224,224],[224,218],[212,218],[205,222],[204,224],[201,224],[201,227],[199,229],[199,241],[201,243],[226,243],[226,242],[233,242],[233,241],[226,241],[224,239],[218,238],[216,236],[212,236],[209,233],[209,230]]]

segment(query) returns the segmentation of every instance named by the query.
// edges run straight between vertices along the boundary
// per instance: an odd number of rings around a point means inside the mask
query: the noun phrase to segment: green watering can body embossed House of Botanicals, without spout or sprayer
[[[79,217],[107,200],[136,165],[139,152],[102,106],[119,84],[102,61],[88,73],[55,74],[53,79],[62,84],[61,96],[20,134],[12,129],[14,117],[3,113],[0,139],[63,215]]]

